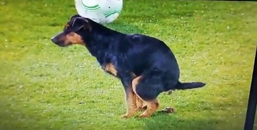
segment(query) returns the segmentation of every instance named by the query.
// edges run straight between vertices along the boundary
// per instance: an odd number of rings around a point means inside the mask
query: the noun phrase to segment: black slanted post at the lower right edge
[[[254,117],[256,112],[256,103],[257,103],[257,49],[255,53],[254,67],[253,67],[253,73],[252,73],[252,83],[251,83],[250,94],[248,99],[248,107],[246,112],[244,130],[253,129]]]

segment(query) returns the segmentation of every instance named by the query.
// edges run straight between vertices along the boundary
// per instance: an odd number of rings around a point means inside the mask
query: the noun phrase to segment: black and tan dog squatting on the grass
[[[159,106],[161,92],[200,88],[201,82],[181,83],[177,61],[161,40],[141,34],[123,34],[88,18],[74,15],[63,32],[52,38],[58,46],[80,44],[97,58],[102,68],[119,78],[131,117],[146,105],[140,117],[149,117]]]

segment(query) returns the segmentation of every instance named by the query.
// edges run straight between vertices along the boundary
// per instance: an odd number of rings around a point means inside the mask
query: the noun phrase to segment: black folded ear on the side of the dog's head
[[[79,31],[80,29],[89,29],[89,31],[91,30],[91,27],[89,25],[89,21],[86,18],[83,17],[77,17],[75,18],[75,20],[72,23],[71,26],[73,31]]]

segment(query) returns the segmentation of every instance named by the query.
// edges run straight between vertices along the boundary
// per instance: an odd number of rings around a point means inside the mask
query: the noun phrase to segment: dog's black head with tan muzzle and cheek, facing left
[[[80,15],[73,15],[65,25],[62,32],[51,38],[58,46],[69,46],[73,44],[86,45],[85,35],[91,30],[89,19]]]

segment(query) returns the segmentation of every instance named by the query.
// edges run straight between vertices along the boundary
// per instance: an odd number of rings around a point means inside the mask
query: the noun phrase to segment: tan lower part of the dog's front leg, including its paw
[[[136,94],[133,92],[132,88],[128,88],[126,93],[127,100],[127,113],[122,115],[121,118],[128,118],[135,114],[136,109]]]

